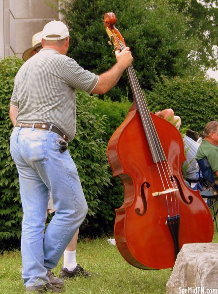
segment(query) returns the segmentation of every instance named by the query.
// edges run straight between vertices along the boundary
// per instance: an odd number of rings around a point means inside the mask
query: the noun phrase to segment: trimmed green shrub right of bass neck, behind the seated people
[[[182,126],[201,132],[206,123],[218,120],[218,83],[203,76],[163,78],[146,95],[153,110],[172,108]]]

